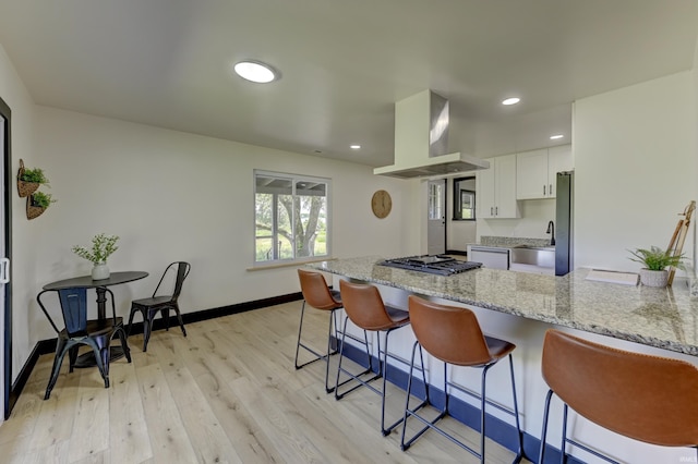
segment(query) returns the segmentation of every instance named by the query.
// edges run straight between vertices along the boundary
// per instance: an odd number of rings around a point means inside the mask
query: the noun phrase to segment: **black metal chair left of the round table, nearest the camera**
[[[58,375],[60,374],[65,353],[69,354],[70,358],[70,371],[72,373],[73,368],[76,367],[77,350],[80,349],[80,345],[87,345],[92,347],[95,356],[95,364],[99,368],[99,374],[101,374],[101,377],[105,380],[105,388],[109,388],[110,344],[115,335],[118,335],[121,340],[123,354],[127,356],[129,363],[131,363],[131,352],[129,351],[129,344],[127,343],[123,319],[121,317],[117,317],[113,293],[111,293],[109,289],[105,290],[111,300],[111,317],[106,317],[105,319],[87,319],[87,289],[85,288],[45,290],[36,296],[36,301],[38,302],[41,310],[58,334],[51,378],[48,382],[48,387],[46,388],[44,400],[48,400],[51,395],[51,390],[58,380]],[[53,322],[53,319],[46,308],[45,302],[43,301],[45,295],[49,292],[58,295],[63,321],[65,322],[65,328],[62,330],[58,329],[56,322]]]

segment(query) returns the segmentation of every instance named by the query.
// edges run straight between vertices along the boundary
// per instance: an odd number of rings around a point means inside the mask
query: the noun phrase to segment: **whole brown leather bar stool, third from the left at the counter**
[[[410,364],[410,374],[408,377],[407,386],[407,401],[405,404],[405,422],[402,423],[402,439],[400,445],[402,450],[407,450],[419,437],[421,437],[428,429],[434,429],[443,437],[447,438],[452,442],[458,444],[462,449],[470,452],[476,457],[480,459],[480,462],[485,462],[485,403],[496,407],[512,416],[516,422],[516,434],[518,439],[518,452],[514,462],[519,462],[522,457],[522,436],[521,427],[519,425],[518,403],[516,400],[516,383],[514,381],[514,363],[512,361],[512,352],[516,349],[513,343],[504,340],[498,340],[492,337],[484,335],[478,323],[478,318],[474,313],[464,307],[445,306],[434,302],[430,302],[420,298],[414,295],[410,295],[409,310],[412,330],[417,337],[417,342],[412,346],[412,358]],[[425,399],[417,407],[409,407],[410,393],[412,390],[412,373],[414,369],[414,357],[417,349],[419,347],[419,355],[421,361],[421,369],[424,371],[424,361],[422,349],[429,354],[444,362],[444,408],[438,410],[440,414],[436,418],[429,420],[418,414],[418,411],[422,407],[433,404],[430,400],[429,384],[424,382]],[[509,374],[512,377],[512,394],[514,396],[514,411],[510,411],[500,404],[496,404],[490,400],[486,400],[486,375],[488,370],[494,366],[502,358],[509,358]],[[476,394],[464,387],[448,381],[447,368],[448,365],[454,366],[469,366],[482,368],[481,375],[481,394]],[[473,450],[462,441],[455,438],[453,435],[438,428],[436,423],[448,415],[448,387],[456,389],[462,393],[469,394],[480,400],[480,452]],[[424,427],[419,430],[412,438],[406,441],[407,419],[408,417],[416,417]]]

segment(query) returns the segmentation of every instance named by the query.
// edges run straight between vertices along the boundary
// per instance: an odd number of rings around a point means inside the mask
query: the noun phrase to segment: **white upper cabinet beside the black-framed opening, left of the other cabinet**
[[[516,155],[488,161],[490,169],[478,171],[478,217],[520,218],[516,200]]]

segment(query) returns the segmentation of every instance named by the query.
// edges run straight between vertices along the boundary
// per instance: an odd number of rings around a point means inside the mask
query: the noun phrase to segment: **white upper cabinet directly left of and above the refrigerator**
[[[516,198],[555,198],[557,173],[571,169],[571,145],[517,154]]]

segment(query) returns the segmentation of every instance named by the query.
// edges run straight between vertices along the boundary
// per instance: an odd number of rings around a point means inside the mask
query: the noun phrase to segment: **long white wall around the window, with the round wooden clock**
[[[32,221],[38,240],[28,307],[32,341],[52,335],[32,298],[47,282],[89,272],[71,252],[98,232],[121,237],[112,271],[152,277],[113,291],[128,315],[133,296],[147,294],[165,266],[188,260],[184,313],[299,291],[296,268],[249,271],[254,248],[253,169],[333,179],[333,256],[401,255],[418,249],[404,233],[412,182],[375,176],[369,167],[234,142],[160,130],[47,107],[36,108],[36,162],[58,203]],[[378,188],[393,196],[386,219],[371,212]],[[24,220],[26,221],[26,219]],[[31,298],[29,298],[31,296]]]

